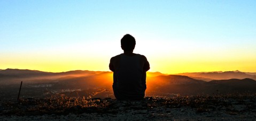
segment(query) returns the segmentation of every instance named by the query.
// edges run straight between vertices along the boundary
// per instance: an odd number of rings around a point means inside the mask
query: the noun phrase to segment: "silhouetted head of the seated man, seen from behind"
[[[122,46],[122,49],[125,51],[134,50],[135,45],[136,45],[135,38],[130,34],[125,34],[125,36],[123,36],[123,38],[121,39],[121,46]]]

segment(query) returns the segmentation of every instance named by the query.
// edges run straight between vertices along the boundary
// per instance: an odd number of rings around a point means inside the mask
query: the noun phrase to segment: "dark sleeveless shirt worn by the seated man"
[[[146,72],[140,65],[141,56],[120,54],[119,68],[114,71],[113,91],[119,100],[141,100],[145,96]]]

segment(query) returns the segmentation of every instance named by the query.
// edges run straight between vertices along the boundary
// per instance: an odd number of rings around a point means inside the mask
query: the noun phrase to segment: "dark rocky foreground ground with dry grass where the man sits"
[[[256,94],[226,94],[143,101],[111,98],[1,101],[1,120],[255,120]]]

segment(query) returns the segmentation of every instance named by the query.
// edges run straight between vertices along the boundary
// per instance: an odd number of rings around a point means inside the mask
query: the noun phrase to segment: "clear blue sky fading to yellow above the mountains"
[[[0,69],[110,71],[136,39],[151,72],[256,72],[256,1],[0,0]]]

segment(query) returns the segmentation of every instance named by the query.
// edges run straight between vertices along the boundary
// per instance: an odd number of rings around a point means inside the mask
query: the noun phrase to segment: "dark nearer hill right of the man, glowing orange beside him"
[[[149,79],[148,93],[153,96],[165,95],[170,96],[172,93],[187,94],[214,94],[218,93],[244,93],[256,92],[256,81],[252,79],[230,79],[230,80],[214,80],[205,82],[195,80],[188,76],[168,75],[156,76]]]

